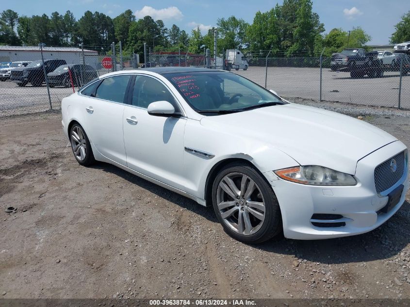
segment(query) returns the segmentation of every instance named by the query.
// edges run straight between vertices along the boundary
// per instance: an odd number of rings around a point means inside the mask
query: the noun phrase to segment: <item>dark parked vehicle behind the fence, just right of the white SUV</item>
[[[44,60],[46,73],[64,64],[67,64],[65,60]],[[26,86],[27,83],[31,83],[33,86],[41,86],[46,81],[42,61],[33,61],[26,67],[13,69],[10,80],[16,82],[18,86]]]

